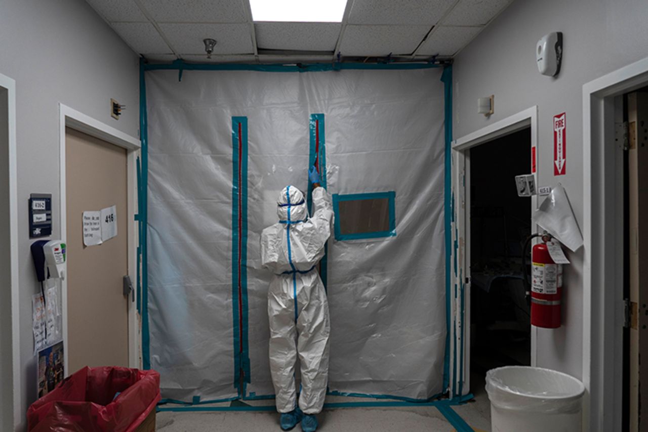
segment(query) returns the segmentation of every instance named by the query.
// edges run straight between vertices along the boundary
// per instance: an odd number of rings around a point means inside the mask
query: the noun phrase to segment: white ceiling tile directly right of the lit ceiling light
[[[354,0],[347,22],[349,24],[425,24],[432,27],[454,5],[455,1]]]

